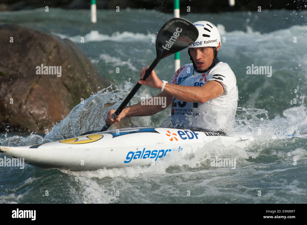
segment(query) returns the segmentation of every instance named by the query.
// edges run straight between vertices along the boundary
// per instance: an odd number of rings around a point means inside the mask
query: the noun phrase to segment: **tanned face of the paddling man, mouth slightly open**
[[[220,46],[216,47],[218,50]],[[213,47],[190,48],[190,54],[199,70],[206,70],[213,62]]]

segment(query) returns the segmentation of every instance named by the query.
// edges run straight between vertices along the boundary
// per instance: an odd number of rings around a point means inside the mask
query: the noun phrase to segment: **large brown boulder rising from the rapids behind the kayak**
[[[106,87],[70,40],[16,25],[0,25],[0,40],[0,131],[50,130],[80,99]],[[61,66],[61,76],[37,74],[41,64]]]

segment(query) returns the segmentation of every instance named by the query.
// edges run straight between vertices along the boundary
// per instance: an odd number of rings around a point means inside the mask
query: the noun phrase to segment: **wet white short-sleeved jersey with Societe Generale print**
[[[169,83],[201,87],[211,80],[220,82],[223,95],[205,103],[183,102],[173,97],[171,121],[174,128],[219,131],[233,127],[238,87],[235,74],[227,63],[219,62],[205,73],[198,73],[193,64],[186,64],[177,70]]]

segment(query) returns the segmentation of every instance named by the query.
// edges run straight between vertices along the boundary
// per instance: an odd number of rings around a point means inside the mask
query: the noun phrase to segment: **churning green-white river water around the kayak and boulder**
[[[211,21],[220,31],[223,42],[218,56],[230,65],[239,89],[232,133],[255,139],[245,149],[213,142],[192,159],[169,158],[149,167],[97,171],[27,164],[23,170],[0,167],[0,203],[306,203],[306,16],[306,10],[182,16],[192,22]],[[99,75],[111,81],[106,84],[111,87],[77,105],[48,135],[1,134],[0,145],[39,144],[101,128],[107,111],[119,106],[138,81],[140,69],[155,58],[152,37],[171,17],[155,10],[98,10],[98,22],[91,24],[89,10],[1,12],[2,24],[26,26],[75,42]],[[181,64],[187,63],[185,49]],[[173,64],[173,56],[161,60],[155,69],[161,80],[171,79]],[[248,66],[268,66],[271,74],[248,74]],[[132,103],[159,92],[141,87]],[[115,105],[104,108],[109,102]],[[133,118],[131,125],[161,126],[168,116],[170,108]],[[211,158],[216,156],[236,158],[236,169],[212,167]]]

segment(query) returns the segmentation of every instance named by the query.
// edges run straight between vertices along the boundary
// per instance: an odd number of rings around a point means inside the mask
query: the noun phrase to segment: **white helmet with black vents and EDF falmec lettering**
[[[193,25],[198,29],[197,40],[189,48],[217,47],[221,42],[220,32],[208,21],[197,21]]]

